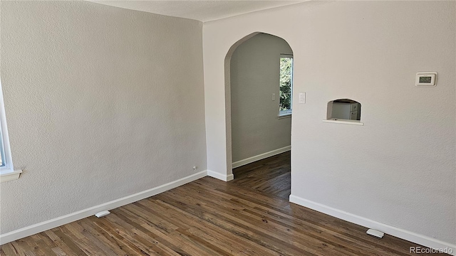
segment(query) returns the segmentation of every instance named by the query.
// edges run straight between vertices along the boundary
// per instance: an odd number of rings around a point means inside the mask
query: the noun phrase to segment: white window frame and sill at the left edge
[[[3,149],[3,150],[2,150]],[[1,154],[3,151],[3,154]],[[12,181],[18,179],[21,170],[14,171],[13,167],[13,158],[11,157],[11,147],[9,146],[9,137],[8,137],[8,128],[6,127],[6,114],[5,114],[5,105],[3,99],[3,88],[1,87],[1,78],[0,78],[0,154],[1,161],[4,163],[4,166],[0,166],[0,181]]]

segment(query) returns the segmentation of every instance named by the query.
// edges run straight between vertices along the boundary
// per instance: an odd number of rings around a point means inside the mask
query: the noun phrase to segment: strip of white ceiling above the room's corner
[[[271,9],[279,6],[297,4],[301,1],[257,1],[257,0],[168,0],[168,1],[110,1],[110,0],[86,0],[108,6],[116,6],[125,9],[147,11],[152,14],[162,14],[180,18],[191,18],[197,21],[214,21],[219,18],[227,18],[239,14],[247,14],[252,11]]]

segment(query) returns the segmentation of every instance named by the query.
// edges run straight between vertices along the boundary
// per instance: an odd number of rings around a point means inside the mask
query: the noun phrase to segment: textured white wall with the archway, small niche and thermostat
[[[204,23],[208,169],[230,171],[227,51],[252,32],[280,36],[307,96],[294,95],[291,193],[455,244],[455,17],[455,1],[310,1]],[[420,71],[437,71],[437,87],[415,87]],[[321,122],[344,98],[361,102],[364,126]]]

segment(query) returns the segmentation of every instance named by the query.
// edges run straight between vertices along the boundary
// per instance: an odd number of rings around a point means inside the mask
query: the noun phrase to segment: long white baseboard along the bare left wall
[[[125,196],[123,198],[116,199],[114,201],[110,201],[108,203],[102,203],[98,206],[93,206],[84,210],[79,210],[76,213],[70,213],[67,215],[63,215],[58,218],[54,218],[52,220],[46,220],[42,223],[30,225],[25,228],[20,228],[19,230],[14,230],[9,233],[4,233],[0,235],[0,245],[4,245],[7,242],[11,242],[14,240],[18,240],[20,238],[25,238],[29,235],[34,235],[36,233],[43,232],[45,230],[50,230],[51,228],[56,228],[60,225],[64,225],[67,223],[71,223],[76,220],[81,220],[82,218],[87,218],[90,215],[94,215],[102,210],[111,210],[113,208],[118,208],[120,206],[125,206],[128,203],[133,203],[139,201],[144,198],[148,198],[150,196],[155,196],[158,193],[162,193],[168,191],[172,188],[177,188],[178,186],[182,186],[185,183],[189,183],[191,181],[195,181],[198,178],[202,178],[207,176],[207,171],[199,171],[197,174],[192,174],[190,176],[180,178],[177,181],[172,181],[170,183],[166,183],[162,186],[157,186],[155,188],[147,189],[146,191],[142,191],[139,193],[135,193],[130,196]]]

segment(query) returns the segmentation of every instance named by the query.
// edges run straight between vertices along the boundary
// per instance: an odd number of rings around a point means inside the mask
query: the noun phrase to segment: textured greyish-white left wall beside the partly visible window
[[[205,170],[202,70],[199,21],[1,1],[1,82],[24,169],[1,183],[1,233]]]

